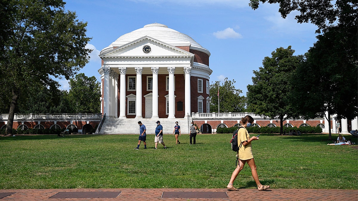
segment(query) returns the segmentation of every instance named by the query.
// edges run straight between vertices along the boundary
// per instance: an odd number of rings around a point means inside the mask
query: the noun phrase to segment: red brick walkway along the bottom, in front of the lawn
[[[49,198],[58,192],[113,192],[122,193],[116,198]],[[222,188],[193,189],[193,188],[111,188],[111,189],[16,189],[4,190],[0,193],[16,192],[13,195],[0,200],[38,201],[38,200],[345,200],[357,201],[358,190],[337,189],[271,189],[270,191],[258,191],[255,189],[240,189],[240,191],[227,191]],[[161,198],[163,192],[227,192],[228,198]]]

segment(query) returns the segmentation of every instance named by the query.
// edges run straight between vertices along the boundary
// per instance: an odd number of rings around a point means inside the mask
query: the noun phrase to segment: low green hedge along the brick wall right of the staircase
[[[216,133],[233,133],[237,127],[230,128],[217,128]],[[311,127],[311,126],[301,126],[297,128],[296,126],[293,128],[284,128],[286,130],[286,134],[290,132],[290,130],[296,130],[301,133],[322,133],[322,129],[320,127]],[[253,126],[247,128],[249,133],[280,133],[280,127],[258,127]]]

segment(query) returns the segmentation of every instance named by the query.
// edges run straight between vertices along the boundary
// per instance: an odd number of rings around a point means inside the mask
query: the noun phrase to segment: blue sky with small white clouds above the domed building
[[[66,1],[66,0],[65,0]],[[160,23],[187,34],[211,53],[210,82],[228,78],[246,96],[253,70],[262,67],[264,57],[276,48],[304,54],[316,41],[315,25],[298,24],[295,13],[282,19],[278,5],[260,4],[257,10],[249,0],[68,0],[66,10],[76,11],[78,20],[87,21],[90,62],[80,70],[100,81],[100,51],[121,35]],[[60,80],[68,89],[68,81]]]

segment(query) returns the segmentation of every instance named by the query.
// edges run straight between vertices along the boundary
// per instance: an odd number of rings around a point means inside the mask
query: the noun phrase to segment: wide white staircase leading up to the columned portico
[[[163,126],[164,134],[172,134],[175,126],[175,122],[178,121],[180,126],[180,132],[182,134],[189,133],[188,127],[188,118],[175,118],[175,119],[167,119],[167,118],[158,118],[158,119],[150,119],[150,118],[127,118],[127,119],[118,119],[118,118],[106,118],[102,124],[102,128],[99,134],[139,134],[139,126],[138,121],[141,121],[142,124],[146,127],[146,134],[154,134],[156,128],[156,121],[160,121],[160,124]],[[192,119],[190,118],[191,122]],[[96,131],[98,134],[98,128]]]

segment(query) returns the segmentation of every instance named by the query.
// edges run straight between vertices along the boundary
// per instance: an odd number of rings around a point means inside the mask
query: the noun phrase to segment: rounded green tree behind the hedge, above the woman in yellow
[[[252,85],[247,85],[248,110],[271,119],[280,119],[280,134],[283,121],[296,118],[297,112],[290,102],[292,73],[301,63],[303,56],[293,55],[291,46],[277,48],[272,57],[265,57],[259,70],[254,70]]]

